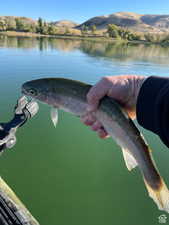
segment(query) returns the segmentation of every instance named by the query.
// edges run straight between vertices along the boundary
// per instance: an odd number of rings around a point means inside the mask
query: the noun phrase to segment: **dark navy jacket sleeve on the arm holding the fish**
[[[156,133],[169,147],[169,78],[147,78],[138,95],[136,105],[138,123]]]

